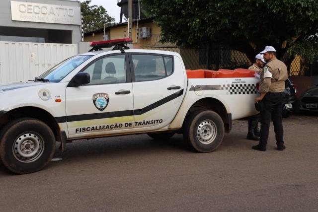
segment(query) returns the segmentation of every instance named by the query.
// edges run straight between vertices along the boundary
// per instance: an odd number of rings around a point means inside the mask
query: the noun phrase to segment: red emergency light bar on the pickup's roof
[[[107,41],[94,41],[91,42],[89,46],[92,47],[91,51],[98,51],[102,50],[102,48],[110,48],[114,46],[113,50],[120,50],[124,51],[124,49],[129,49],[127,43],[133,42],[131,38],[122,38],[122,39],[114,39],[114,40],[107,40]]]

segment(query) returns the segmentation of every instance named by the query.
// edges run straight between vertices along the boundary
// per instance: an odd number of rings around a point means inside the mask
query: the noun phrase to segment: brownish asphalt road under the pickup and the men
[[[13,175],[0,163],[0,211],[318,211],[318,116],[284,119],[286,150],[266,152],[234,122],[211,153],[182,136],[74,141],[62,161]]]

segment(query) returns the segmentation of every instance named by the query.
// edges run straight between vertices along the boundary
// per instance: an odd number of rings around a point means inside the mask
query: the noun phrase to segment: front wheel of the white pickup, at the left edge
[[[0,158],[6,168],[16,174],[42,169],[52,159],[55,136],[37,119],[17,119],[0,132]]]

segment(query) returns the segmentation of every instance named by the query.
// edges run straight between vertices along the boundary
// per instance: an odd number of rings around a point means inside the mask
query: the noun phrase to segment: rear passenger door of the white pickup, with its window
[[[180,59],[169,55],[131,53],[134,128],[160,129],[175,117],[185,93]]]

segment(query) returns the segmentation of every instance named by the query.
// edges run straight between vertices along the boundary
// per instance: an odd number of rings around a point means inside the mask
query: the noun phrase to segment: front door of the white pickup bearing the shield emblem
[[[128,64],[127,54],[102,56],[81,70],[89,73],[88,84],[67,87],[66,114],[71,137],[133,128],[133,87]]]

